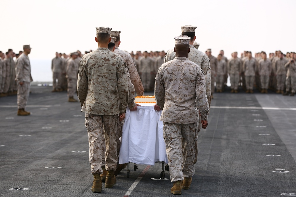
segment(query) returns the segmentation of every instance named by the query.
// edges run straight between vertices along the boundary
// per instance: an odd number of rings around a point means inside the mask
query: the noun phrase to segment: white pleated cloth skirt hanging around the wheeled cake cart
[[[154,110],[154,104],[143,104],[137,111],[126,110],[119,163],[154,165],[157,161],[168,163],[163,140],[161,111]]]

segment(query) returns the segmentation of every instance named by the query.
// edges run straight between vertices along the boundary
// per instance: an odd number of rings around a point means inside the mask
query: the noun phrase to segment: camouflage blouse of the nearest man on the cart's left
[[[125,113],[128,80],[122,58],[108,48],[85,54],[80,62],[77,82],[81,111],[97,115]]]

